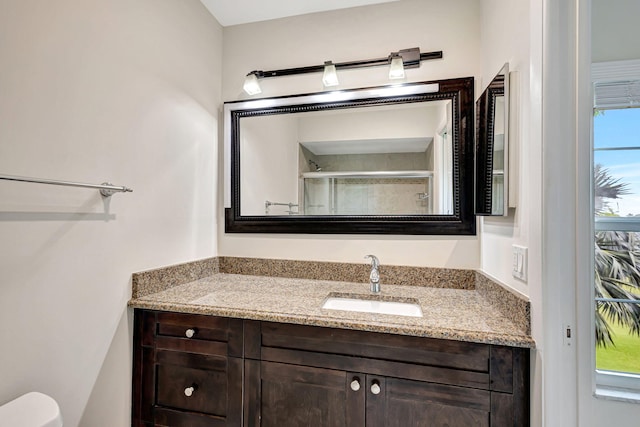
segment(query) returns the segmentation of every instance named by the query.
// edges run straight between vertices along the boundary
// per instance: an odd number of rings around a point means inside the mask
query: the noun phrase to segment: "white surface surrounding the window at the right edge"
[[[583,7],[587,2],[583,1]],[[578,268],[584,281],[591,283],[593,272],[593,234],[591,234],[591,189],[590,181],[592,153],[589,140],[592,134],[593,97],[591,96],[590,63],[603,61],[621,61],[640,59],[640,46],[637,42],[637,18],[640,16],[640,3],[634,0],[592,0],[591,11],[580,16],[583,33],[581,62],[583,80],[581,82],[582,101],[579,105],[582,138],[577,144],[577,171],[580,187],[581,209],[578,215]],[[589,29],[591,31],[589,31]],[[589,58],[590,54],[590,58]],[[584,236],[584,237],[581,237]],[[578,281],[580,283],[580,281]],[[578,326],[578,422],[580,426],[597,427],[602,425],[635,426],[640,419],[640,405],[620,401],[610,401],[593,396],[593,292],[578,286],[577,326]]]

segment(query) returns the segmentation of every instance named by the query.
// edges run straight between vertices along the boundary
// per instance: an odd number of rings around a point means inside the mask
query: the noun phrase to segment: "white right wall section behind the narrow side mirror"
[[[539,123],[533,122],[530,102],[530,3],[528,0],[483,0],[481,4],[481,90],[508,62],[509,70],[517,73],[514,84],[519,92],[519,99],[515,100],[515,122],[519,126],[512,129],[514,134],[509,141],[509,150],[517,153],[513,157],[516,163],[509,165],[509,172],[513,172],[510,182],[517,188],[514,201],[517,208],[510,209],[507,217],[481,218],[481,264],[486,273],[529,295],[531,283],[527,284],[511,276],[511,245],[528,247],[530,239],[535,238],[531,230],[539,227],[536,224],[539,213],[536,212],[540,211],[540,194],[535,192],[531,184],[539,179],[540,164],[536,163],[535,158],[540,150],[540,141],[535,140],[531,134],[532,127]],[[535,264],[529,266],[530,271],[535,268]],[[533,286],[537,285],[539,283],[533,283]]]

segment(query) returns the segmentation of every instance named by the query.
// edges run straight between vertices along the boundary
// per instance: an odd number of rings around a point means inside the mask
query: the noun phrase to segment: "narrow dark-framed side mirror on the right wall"
[[[476,214],[507,216],[509,209],[509,64],[476,102]]]

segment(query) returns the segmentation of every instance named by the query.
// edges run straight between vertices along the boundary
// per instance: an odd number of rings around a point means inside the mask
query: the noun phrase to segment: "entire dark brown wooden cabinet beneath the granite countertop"
[[[147,310],[135,319],[134,426],[529,425],[529,349]]]

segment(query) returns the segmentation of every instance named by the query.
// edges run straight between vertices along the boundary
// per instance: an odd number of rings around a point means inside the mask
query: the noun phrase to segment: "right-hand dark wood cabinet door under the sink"
[[[367,427],[485,427],[490,392],[465,387],[366,377]]]

